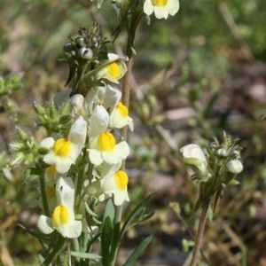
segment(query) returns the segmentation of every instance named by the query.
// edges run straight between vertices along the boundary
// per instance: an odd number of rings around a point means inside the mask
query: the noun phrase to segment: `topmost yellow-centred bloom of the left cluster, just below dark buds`
[[[99,66],[97,71],[98,79],[106,79],[109,82],[118,83],[118,81],[126,74],[127,66],[125,61],[127,58],[123,58],[114,53],[108,53],[108,59]]]

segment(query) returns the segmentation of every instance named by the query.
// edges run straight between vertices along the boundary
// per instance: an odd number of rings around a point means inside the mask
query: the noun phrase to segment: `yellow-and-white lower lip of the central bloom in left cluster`
[[[104,161],[109,164],[120,163],[129,156],[129,145],[126,141],[116,144],[111,132],[105,131],[99,134],[90,145],[90,162],[100,165]]]

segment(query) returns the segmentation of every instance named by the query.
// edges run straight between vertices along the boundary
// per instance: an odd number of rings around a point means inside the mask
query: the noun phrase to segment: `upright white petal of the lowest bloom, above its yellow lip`
[[[56,184],[57,200],[59,205],[67,207],[69,218],[74,219],[74,184],[70,177],[60,177]]]

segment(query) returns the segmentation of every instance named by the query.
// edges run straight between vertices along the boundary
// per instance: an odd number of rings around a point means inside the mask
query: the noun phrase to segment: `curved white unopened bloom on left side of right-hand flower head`
[[[206,156],[199,145],[184,145],[184,147],[180,149],[180,152],[183,154],[185,163],[199,168],[203,175],[207,173]]]

